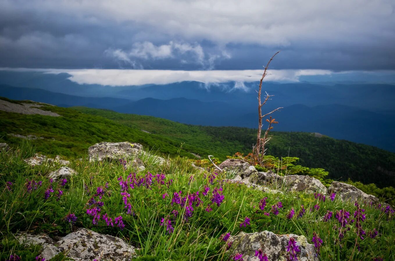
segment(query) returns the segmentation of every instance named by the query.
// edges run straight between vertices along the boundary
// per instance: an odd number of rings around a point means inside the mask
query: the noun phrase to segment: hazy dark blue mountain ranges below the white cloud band
[[[179,82],[147,86],[77,84],[66,73],[0,71],[0,96],[57,106],[87,106],[162,117],[181,123],[256,128],[257,83],[237,86]],[[236,88],[235,88],[236,86]],[[279,84],[265,82],[272,97],[264,112],[275,131],[320,132],[395,152],[395,86],[389,84]]]

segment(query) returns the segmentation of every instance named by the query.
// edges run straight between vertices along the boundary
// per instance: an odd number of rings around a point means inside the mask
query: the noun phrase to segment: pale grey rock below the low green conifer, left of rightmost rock
[[[308,193],[327,193],[327,188],[318,179],[308,175],[289,175],[282,177],[284,186],[288,191],[305,191]]]

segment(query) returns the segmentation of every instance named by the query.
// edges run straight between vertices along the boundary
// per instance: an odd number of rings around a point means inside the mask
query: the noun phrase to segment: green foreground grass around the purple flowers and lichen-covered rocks
[[[0,243],[1,259],[7,259],[11,254],[20,255],[23,260],[31,260],[39,254],[40,247],[24,247],[17,243],[13,234],[30,231],[30,233],[45,232],[51,237],[64,236],[79,227],[85,227],[98,233],[121,237],[126,242],[140,248],[137,260],[228,260],[230,252],[226,251],[226,242],[220,240],[220,235],[229,232],[237,235],[241,231],[247,233],[268,230],[276,234],[294,233],[304,235],[311,242],[313,233],[317,233],[323,240],[320,260],[372,260],[382,257],[384,260],[395,258],[395,233],[393,214],[387,214],[376,206],[362,205],[365,209],[366,220],[362,222],[363,229],[369,233],[374,228],[379,231],[378,237],[371,239],[366,236],[364,240],[357,239],[361,251],[352,252],[356,235],[355,223],[347,225],[345,237],[338,240],[335,211],[344,209],[353,215],[356,207],[352,203],[344,203],[338,199],[325,202],[314,199],[312,194],[284,193],[268,194],[260,190],[248,188],[245,185],[223,182],[225,174],[220,174],[209,181],[208,173],[199,173],[190,166],[190,162],[183,157],[175,156],[169,159],[168,165],[154,164],[153,157],[145,157],[143,161],[147,167],[143,172],[137,173],[137,180],[147,177],[149,172],[153,175],[163,173],[164,184],[157,182],[153,177],[149,186],[135,185],[129,188],[128,203],[131,204],[132,213],[127,214],[124,208],[120,185],[117,180],[123,180],[131,170],[124,170],[117,162],[89,162],[88,160],[71,159],[71,168],[78,175],[68,178],[65,187],[58,182],[52,184],[55,192],[50,198],[44,199],[44,192],[50,186],[47,173],[58,166],[42,166],[31,168],[26,166],[23,159],[36,152],[29,142],[23,142],[18,148],[0,153]],[[127,158],[132,160],[132,158]],[[212,173],[212,171],[211,171]],[[26,180],[42,181],[36,190],[27,191]],[[171,184],[167,184],[171,181]],[[6,188],[6,182],[11,181],[11,191]],[[104,186],[108,183],[108,188]],[[96,189],[102,187],[105,194],[99,199]],[[209,187],[208,196],[202,191]],[[211,205],[211,195],[214,188],[222,187],[224,196],[220,206]],[[58,189],[64,194],[57,201]],[[171,204],[174,192],[182,191],[182,196],[199,191],[201,203],[194,205],[192,216],[186,219],[186,209],[178,204]],[[163,194],[168,194],[162,198]],[[86,213],[87,202],[94,197],[103,202],[101,215],[107,213],[109,217],[122,216],[124,229],[117,226],[107,226],[104,220],[92,224],[92,216]],[[266,212],[270,212],[271,205],[278,201],[284,206],[278,216],[270,214],[265,216],[262,211],[256,212],[260,200],[267,197]],[[213,209],[207,212],[208,205]],[[314,210],[314,205],[319,205]],[[295,212],[304,205],[307,212],[301,218],[297,214],[288,219],[286,216],[293,208]],[[93,207],[93,206],[91,206]],[[312,208],[313,210],[309,210]],[[178,211],[175,217],[172,211]],[[329,222],[323,222],[322,217],[327,211],[333,211]],[[77,222],[71,224],[64,217],[74,213]],[[251,219],[250,226],[239,227],[245,217]],[[160,226],[161,218],[169,218],[174,232],[168,233],[165,226]],[[115,224],[114,224],[115,225]],[[57,260],[62,260],[57,257]]]

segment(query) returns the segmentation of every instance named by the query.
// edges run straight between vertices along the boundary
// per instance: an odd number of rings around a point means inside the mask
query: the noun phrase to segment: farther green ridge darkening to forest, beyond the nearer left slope
[[[254,129],[186,125],[152,116],[120,114],[86,107],[75,107],[75,109],[175,139],[185,143],[183,147],[190,149],[191,152],[203,156],[215,155],[222,160],[237,151],[247,154],[252,144],[256,142]],[[302,166],[324,168],[329,172],[331,179],[346,181],[351,178],[353,181],[362,181],[365,184],[395,185],[394,153],[327,136],[316,138],[305,132],[271,132],[271,134],[273,138],[268,146],[268,155],[281,158],[288,156],[289,153],[291,157],[299,157]]]

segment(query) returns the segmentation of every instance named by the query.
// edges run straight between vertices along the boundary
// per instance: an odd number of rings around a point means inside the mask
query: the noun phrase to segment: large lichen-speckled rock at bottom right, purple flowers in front
[[[270,261],[284,261],[289,257],[286,252],[290,237],[296,240],[300,252],[297,258],[300,261],[318,261],[316,251],[312,244],[307,242],[306,237],[298,235],[276,235],[270,231],[262,231],[255,233],[240,232],[238,235],[230,237],[228,241],[233,241],[229,251],[234,255],[236,253],[243,254],[245,261],[258,261],[255,251],[259,248],[267,255]]]

